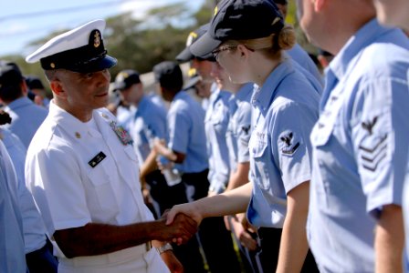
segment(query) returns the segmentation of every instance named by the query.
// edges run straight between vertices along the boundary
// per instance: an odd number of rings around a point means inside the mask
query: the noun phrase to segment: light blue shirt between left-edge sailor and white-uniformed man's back
[[[11,131],[1,128],[5,148],[16,169],[17,195],[21,216],[23,218],[23,231],[25,252],[30,253],[46,245],[46,227],[37,210],[34,198],[26,187],[24,167],[26,162],[26,147]]]

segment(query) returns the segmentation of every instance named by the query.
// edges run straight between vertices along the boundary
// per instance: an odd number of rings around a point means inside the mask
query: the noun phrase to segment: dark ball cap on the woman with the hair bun
[[[278,33],[284,21],[268,0],[225,0],[215,7],[208,31],[190,46],[194,56],[208,56],[227,40],[249,40]]]

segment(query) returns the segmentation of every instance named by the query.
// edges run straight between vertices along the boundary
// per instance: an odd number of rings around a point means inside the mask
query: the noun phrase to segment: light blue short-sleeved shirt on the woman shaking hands
[[[252,98],[247,218],[256,227],[283,227],[288,191],[310,179],[309,134],[319,113],[320,93],[290,60],[267,77]]]

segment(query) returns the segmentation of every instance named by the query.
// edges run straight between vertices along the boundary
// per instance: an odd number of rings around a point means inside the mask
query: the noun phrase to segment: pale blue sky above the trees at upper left
[[[132,11],[142,17],[152,7],[184,2],[198,9],[205,0],[14,0],[0,2],[0,56],[27,56],[26,45],[53,31]]]

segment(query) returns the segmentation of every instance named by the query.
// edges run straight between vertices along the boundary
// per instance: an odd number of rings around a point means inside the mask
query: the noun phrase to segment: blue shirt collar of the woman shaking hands
[[[294,68],[291,66],[288,59],[284,60],[270,73],[269,76],[267,76],[267,79],[261,88],[255,88],[251,104],[266,111],[273,101],[274,96],[276,96],[276,90],[281,81],[293,71]]]

